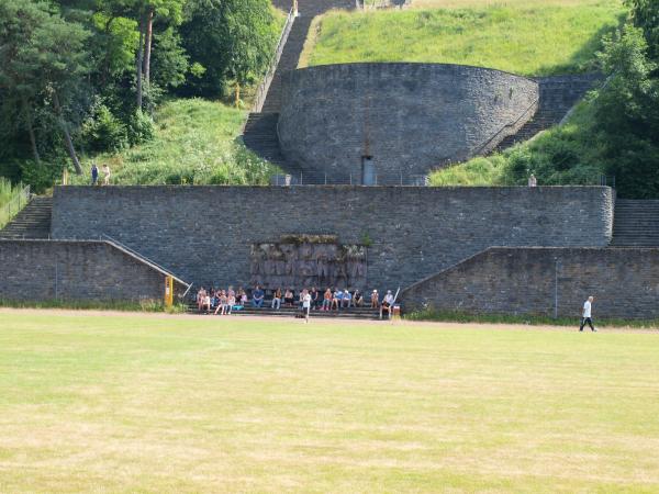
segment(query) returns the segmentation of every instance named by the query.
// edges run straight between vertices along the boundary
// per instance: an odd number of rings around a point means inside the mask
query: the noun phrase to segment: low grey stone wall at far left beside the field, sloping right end
[[[164,290],[164,273],[104,242],[0,240],[2,300],[161,300]]]

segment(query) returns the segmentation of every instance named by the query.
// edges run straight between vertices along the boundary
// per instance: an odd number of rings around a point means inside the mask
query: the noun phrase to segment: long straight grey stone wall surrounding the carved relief
[[[492,246],[605,246],[603,187],[58,187],[53,236],[107,234],[196,285],[248,285],[254,244],[368,245],[366,287],[407,287]]]

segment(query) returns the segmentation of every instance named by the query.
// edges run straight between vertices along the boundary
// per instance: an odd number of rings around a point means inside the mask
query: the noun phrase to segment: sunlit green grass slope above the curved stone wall
[[[331,12],[304,59],[310,66],[425,61],[526,76],[579,72],[593,68],[602,34],[617,26],[623,14],[617,0]]]

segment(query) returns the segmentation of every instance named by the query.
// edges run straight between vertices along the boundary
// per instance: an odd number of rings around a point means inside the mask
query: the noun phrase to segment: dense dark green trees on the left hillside
[[[149,139],[164,98],[258,80],[278,31],[269,0],[0,0],[0,175]]]

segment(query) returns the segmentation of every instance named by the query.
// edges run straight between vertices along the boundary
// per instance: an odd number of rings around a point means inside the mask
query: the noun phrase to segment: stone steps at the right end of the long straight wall
[[[659,200],[615,202],[612,247],[659,247]]]

